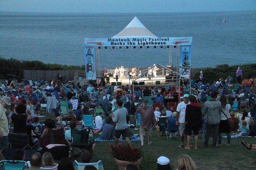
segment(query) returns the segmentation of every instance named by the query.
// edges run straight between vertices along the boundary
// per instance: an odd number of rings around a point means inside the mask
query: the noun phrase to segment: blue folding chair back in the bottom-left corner
[[[2,160],[0,161],[0,170],[25,170],[29,168],[26,161]]]

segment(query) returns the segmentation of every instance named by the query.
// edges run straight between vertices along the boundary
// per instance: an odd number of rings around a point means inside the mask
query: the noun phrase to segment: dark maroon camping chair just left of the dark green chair
[[[52,130],[48,129],[47,134],[44,138],[40,139],[40,147],[46,149],[48,144],[66,144],[66,139],[64,135],[64,129]]]

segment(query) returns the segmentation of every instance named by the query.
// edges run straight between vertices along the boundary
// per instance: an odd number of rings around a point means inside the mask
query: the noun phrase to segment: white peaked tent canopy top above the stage
[[[124,37],[157,37],[152,34],[137,17],[133,20],[118,34],[112,38],[124,38]]]

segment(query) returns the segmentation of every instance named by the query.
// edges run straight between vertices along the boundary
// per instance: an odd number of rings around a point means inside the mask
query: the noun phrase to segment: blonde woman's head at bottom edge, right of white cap
[[[188,155],[178,157],[178,169],[176,170],[196,170],[195,162]]]

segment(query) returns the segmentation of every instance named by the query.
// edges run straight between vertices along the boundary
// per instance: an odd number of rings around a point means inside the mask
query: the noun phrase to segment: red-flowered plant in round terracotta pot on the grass
[[[115,158],[119,170],[125,170],[128,164],[134,164],[139,168],[143,156],[141,148],[131,147],[130,144],[125,145],[124,143],[117,146],[111,145],[110,148],[110,155]]]

